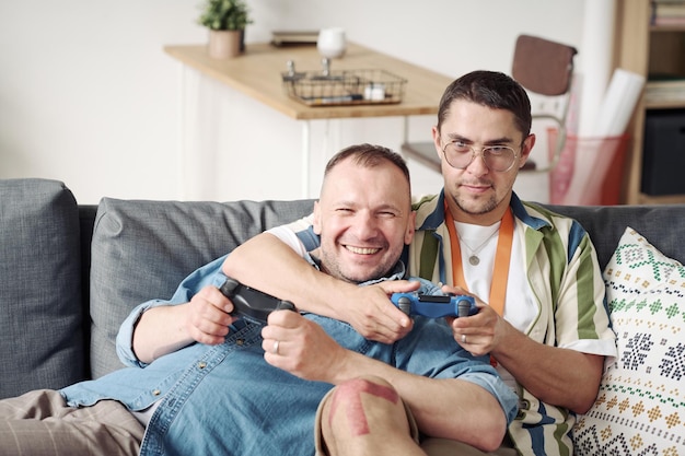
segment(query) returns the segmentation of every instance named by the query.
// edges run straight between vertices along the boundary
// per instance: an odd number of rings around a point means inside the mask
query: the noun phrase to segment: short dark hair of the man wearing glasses
[[[445,89],[438,108],[438,131],[455,100],[466,100],[492,109],[507,109],[514,115],[519,130],[526,138],[531,133],[531,100],[525,89],[509,75],[497,71],[478,70],[464,74]]]

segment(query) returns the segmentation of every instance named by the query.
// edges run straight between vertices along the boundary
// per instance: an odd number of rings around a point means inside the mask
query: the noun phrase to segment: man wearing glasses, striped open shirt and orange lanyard
[[[456,342],[489,353],[519,395],[519,416],[497,454],[572,454],[573,412],[594,402],[605,356],[616,354],[615,336],[587,232],[513,192],[535,144],[531,122],[527,94],[506,74],[475,71],[448,86],[432,129],[444,188],[415,204],[417,233],[405,254],[410,274],[472,294],[481,306],[451,325]],[[274,233],[302,250],[315,246],[302,221],[291,229],[302,245]],[[266,268],[278,273],[264,280]],[[391,342],[411,327],[387,296],[307,271],[269,234],[236,249],[224,271],[299,308],[346,320],[368,338]],[[446,440],[422,447],[430,455],[481,454]]]

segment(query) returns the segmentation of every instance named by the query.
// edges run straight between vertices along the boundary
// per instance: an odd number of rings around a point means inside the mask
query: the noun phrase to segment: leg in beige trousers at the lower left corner
[[[7,456],[137,455],[143,433],[114,400],[73,408],[47,389],[0,400],[0,448]]]

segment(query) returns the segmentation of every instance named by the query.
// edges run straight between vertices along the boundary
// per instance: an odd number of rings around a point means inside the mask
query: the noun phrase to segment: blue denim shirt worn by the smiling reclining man
[[[333,385],[304,381],[268,364],[262,349],[263,325],[239,320],[221,344],[194,343],[150,364],[141,363],[132,352],[132,331],[140,314],[153,306],[187,302],[202,287],[223,283],[223,258],[190,274],[172,300],[149,301],[131,312],[117,336],[117,352],[129,367],[60,393],[72,407],[115,399],[140,411],[159,400],[141,455],[313,455],[316,408]],[[387,279],[404,277],[404,265],[399,265]],[[421,291],[434,294],[438,289],[421,281]],[[488,359],[474,358],[454,342],[442,318],[417,316],[407,337],[385,344],[364,339],[347,323],[303,315],[349,350],[417,375],[475,383],[500,401],[508,420],[515,414],[516,397]]]

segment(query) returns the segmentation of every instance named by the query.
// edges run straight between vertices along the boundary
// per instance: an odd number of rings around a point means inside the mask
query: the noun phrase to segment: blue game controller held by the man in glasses
[[[472,296],[431,296],[419,293],[393,293],[390,299],[407,315],[422,315],[430,318],[467,317],[478,313]]]

